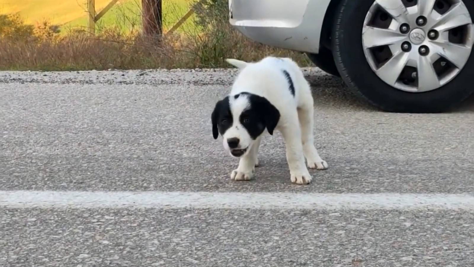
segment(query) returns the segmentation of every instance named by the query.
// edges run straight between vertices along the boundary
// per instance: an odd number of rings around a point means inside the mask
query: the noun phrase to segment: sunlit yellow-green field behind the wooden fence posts
[[[110,0],[95,0],[96,12],[104,8]],[[21,3],[20,3],[21,2]],[[193,0],[163,0],[164,29],[169,29],[190,8]],[[27,23],[35,24],[44,19],[61,25],[63,31],[71,28],[85,28],[88,15],[85,0],[0,0],[0,13],[19,13]],[[117,26],[132,29],[141,25],[141,0],[119,0],[97,22],[97,29]],[[179,31],[194,31],[192,17]]]

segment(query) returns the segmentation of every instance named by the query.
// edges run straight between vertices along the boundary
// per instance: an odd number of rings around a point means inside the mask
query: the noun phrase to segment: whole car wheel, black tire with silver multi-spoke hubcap
[[[385,111],[446,111],[474,91],[473,16],[473,0],[342,0],[337,69]]]

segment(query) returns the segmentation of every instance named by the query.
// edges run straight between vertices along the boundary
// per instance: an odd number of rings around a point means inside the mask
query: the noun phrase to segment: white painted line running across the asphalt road
[[[6,208],[474,210],[469,194],[0,191]]]

